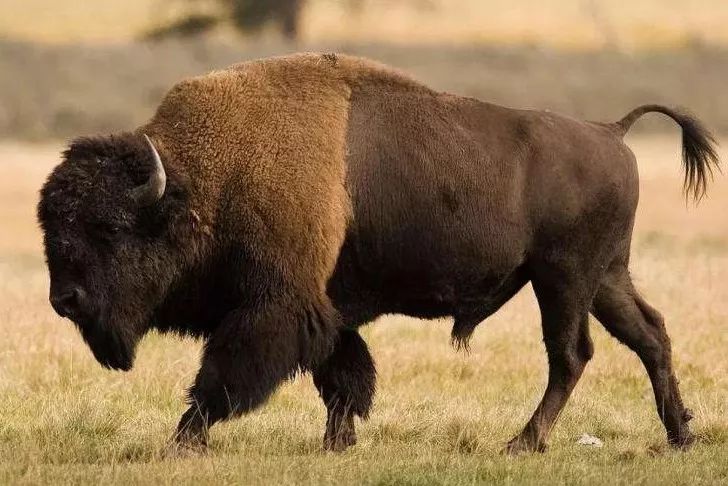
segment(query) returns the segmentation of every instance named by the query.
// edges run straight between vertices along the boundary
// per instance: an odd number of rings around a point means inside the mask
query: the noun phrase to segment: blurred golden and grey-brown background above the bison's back
[[[130,129],[180,78],[300,50],[591,119],[685,105],[725,132],[727,21],[725,0],[0,0],[0,138]]]

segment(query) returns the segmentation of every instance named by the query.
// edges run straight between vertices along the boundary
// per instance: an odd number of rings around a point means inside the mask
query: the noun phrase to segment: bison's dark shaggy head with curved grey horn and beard
[[[41,190],[51,305],[109,368],[131,368],[175,277],[169,226],[180,191],[166,179],[151,141],[126,134],[75,141]]]

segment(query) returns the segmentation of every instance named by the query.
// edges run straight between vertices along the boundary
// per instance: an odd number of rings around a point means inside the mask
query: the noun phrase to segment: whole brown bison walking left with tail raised
[[[506,450],[542,451],[592,357],[589,314],[637,353],[669,442],[693,441],[662,316],[629,276],[638,199],[623,137],[648,112],[683,133],[700,198],[714,140],[657,105],[616,123],[434,91],[365,59],[298,54],[174,86],[133,132],[78,138],[41,190],[50,302],[105,367],[152,329],[204,340],[176,442],[310,372],[324,447],[356,442],[375,367],[357,332],[383,314],[475,327],[526,283],[548,383]]]

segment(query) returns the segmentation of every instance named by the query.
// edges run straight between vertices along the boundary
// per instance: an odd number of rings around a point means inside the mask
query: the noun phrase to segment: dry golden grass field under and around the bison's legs
[[[476,331],[381,319],[363,330],[379,369],[359,444],[322,452],[324,409],[309,377],[212,432],[201,457],[161,451],[183,411],[199,344],[149,336],[133,371],[105,371],[47,304],[36,193],[59,147],[0,145],[0,482],[243,484],[718,484],[728,481],[728,181],[699,207],[680,195],[677,136],[633,138],[643,174],[633,274],[667,317],[701,441],[666,447],[638,360],[593,322],[596,355],[546,454],[500,455],[540,398],[546,362],[524,290]],[[723,152],[723,159],[726,160]],[[582,433],[602,449],[575,443]]]

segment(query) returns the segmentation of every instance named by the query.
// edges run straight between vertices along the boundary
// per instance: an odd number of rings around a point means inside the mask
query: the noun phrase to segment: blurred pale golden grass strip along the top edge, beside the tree
[[[568,48],[728,44],[724,0],[309,0],[307,42],[538,44]],[[3,0],[0,32],[51,42],[129,40],[187,11],[184,0]],[[194,2],[210,4],[210,0]],[[207,6],[207,11],[214,7]]]

